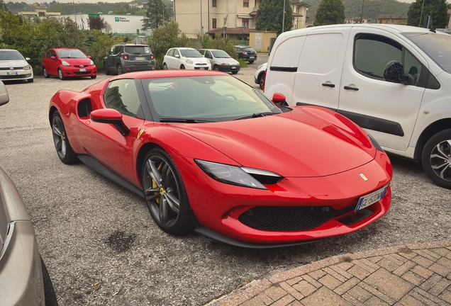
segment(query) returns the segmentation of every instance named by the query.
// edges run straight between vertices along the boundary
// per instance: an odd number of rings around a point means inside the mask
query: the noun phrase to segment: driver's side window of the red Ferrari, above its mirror
[[[133,79],[111,81],[104,94],[105,105],[123,115],[136,117],[140,99]]]

